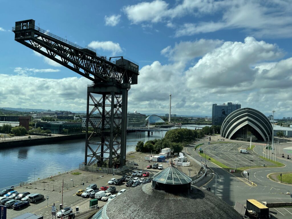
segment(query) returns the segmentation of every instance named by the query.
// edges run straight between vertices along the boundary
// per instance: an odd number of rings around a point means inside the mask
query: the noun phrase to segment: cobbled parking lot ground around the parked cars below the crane
[[[166,168],[168,164],[164,164],[164,168]],[[142,169],[142,165],[137,167],[137,170]],[[155,173],[160,170],[157,169],[147,169],[146,165],[143,166],[144,172],[150,172],[150,177],[152,177]],[[20,210],[14,210],[12,208],[7,209],[7,219],[15,218],[24,213],[34,213],[36,215],[43,215],[44,218],[52,218],[51,215],[51,206],[55,203],[57,206],[57,212],[59,210],[59,205],[62,203],[62,181],[64,180],[63,187],[63,206],[71,207],[73,212],[76,207],[79,207],[79,211],[85,211],[89,208],[89,200],[91,198],[83,198],[76,195],[76,192],[80,189],[85,189],[88,185],[95,183],[98,185],[98,188],[102,186],[111,186],[108,185],[108,181],[111,178],[121,178],[123,175],[131,175],[135,168],[129,169],[127,172],[122,174],[106,174],[106,173],[95,173],[95,172],[87,172],[75,170],[69,173],[64,173],[58,176],[54,176],[52,178],[47,178],[44,180],[37,181],[36,184],[27,184],[21,187],[15,187],[14,190],[17,192],[30,192],[31,194],[40,193],[44,195],[44,199],[41,201],[37,201],[36,203],[30,203],[29,206],[22,208]],[[72,175],[73,172],[80,172],[80,175]],[[141,178],[141,177],[139,177]],[[82,185],[84,183],[84,185]],[[126,187],[126,183],[123,182],[116,187],[116,192],[113,194],[117,194],[121,189],[132,190],[135,188]],[[53,191],[54,190],[54,191]],[[49,199],[46,199],[46,197]],[[105,204],[103,201],[98,201],[98,206],[101,207]]]

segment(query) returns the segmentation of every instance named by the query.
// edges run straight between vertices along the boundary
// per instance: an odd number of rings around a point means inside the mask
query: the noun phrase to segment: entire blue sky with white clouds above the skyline
[[[0,107],[86,110],[79,74],[14,41],[15,21],[139,63],[128,111],[211,115],[241,103],[292,117],[291,1],[5,1]],[[6,8],[5,10],[3,10]]]

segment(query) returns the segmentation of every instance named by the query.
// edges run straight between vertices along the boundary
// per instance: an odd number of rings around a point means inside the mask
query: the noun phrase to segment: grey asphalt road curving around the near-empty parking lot
[[[187,152],[198,161],[201,161],[201,156],[199,156],[198,151],[193,151],[194,146],[194,144],[188,145]],[[258,151],[258,147],[263,146],[256,146],[254,152]],[[260,152],[260,155],[263,155],[263,153],[261,154]],[[277,158],[277,161],[279,161],[279,158]],[[202,159],[202,162],[205,164],[204,159]],[[206,160],[207,166],[217,175],[217,196],[231,206],[234,206],[236,201],[241,204],[246,204],[246,199],[257,199],[258,201],[267,201],[270,203],[291,202],[290,195],[286,195],[285,192],[292,193],[292,186],[276,183],[267,178],[269,173],[291,172],[291,160],[280,159],[280,162],[286,166],[282,168],[265,167],[251,169],[250,180],[257,184],[257,186],[251,186],[244,178],[238,178],[216,164]],[[211,187],[210,192],[214,194],[216,187],[215,179],[216,178],[213,177],[211,181],[204,186]]]

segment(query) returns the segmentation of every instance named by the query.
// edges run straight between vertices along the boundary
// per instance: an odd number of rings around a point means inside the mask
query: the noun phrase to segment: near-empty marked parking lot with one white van
[[[220,163],[228,166],[229,168],[237,168],[251,166],[273,166],[274,164],[265,161],[258,157],[258,154],[249,151],[249,154],[240,153],[240,149],[247,149],[249,145],[243,144],[231,144],[231,143],[223,143],[223,144],[211,144],[200,146],[209,157],[219,161]]]

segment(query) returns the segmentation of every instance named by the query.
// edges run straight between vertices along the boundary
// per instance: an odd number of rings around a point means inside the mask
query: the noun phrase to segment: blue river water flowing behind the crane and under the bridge
[[[204,126],[201,125],[201,127]],[[187,128],[195,129],[190,126]],[[153,132],[153,135],[150,134],[149,137],[147,132],[141,132],[139,137],[135,133],[127,133],[126,150],[127,152],[135,151],[138,141],[160,139],[165,133],[165,131]],[[0,150],[0,188],[78,168],[84,161],[84,150],[84,139],[2,149]]]

